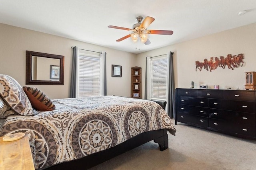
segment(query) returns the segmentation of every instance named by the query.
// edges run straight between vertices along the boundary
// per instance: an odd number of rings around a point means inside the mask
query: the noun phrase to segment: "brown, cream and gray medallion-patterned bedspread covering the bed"
[[[176,129],[155,102],[118,96],[52,100],[53,111],[9,116],[2,135],[28,133],[35,168],[81,158],[114,147],[140,133]]]

